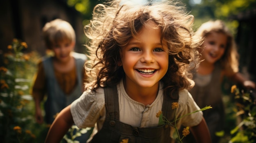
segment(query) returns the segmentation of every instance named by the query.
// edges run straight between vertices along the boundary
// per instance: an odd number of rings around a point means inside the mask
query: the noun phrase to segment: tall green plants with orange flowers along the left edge
[[[13,39],[8,46],[10,53],[4,55],[4,66],[0,67],[0,137],[3,143],[35,142],[36,136],[28,124],[33,123],[33,116],[28,108],[32,101],[29,95],[31,77],[34,72],[29,54],[22,50],[27,48],[25,42]],[[26,70],[30,69],[30,71]]]

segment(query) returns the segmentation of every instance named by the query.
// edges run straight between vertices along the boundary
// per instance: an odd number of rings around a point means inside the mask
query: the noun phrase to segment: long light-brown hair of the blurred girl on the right
[[[210,20],[203,23],[195,32],[195,35],[206,38],[213,32],[223,33],[227,36],[227,47],[217,63],[221,65],[222,69],[231,68],[234,72],[238,72],[238,52],[236,49],[236,42],[228,27],[222,20]]]

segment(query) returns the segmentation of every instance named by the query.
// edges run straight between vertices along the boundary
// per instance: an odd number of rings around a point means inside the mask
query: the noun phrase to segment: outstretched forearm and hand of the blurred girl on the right
[[[241,73],[235,73],[231,79],[238,82],[239,84],[242,84],[245,88],[248,89],[255,89],[256,85],[253,81],[247,80]]]

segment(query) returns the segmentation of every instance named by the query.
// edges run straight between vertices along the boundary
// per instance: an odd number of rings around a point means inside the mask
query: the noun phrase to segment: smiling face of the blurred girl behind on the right
[[[202,59],[209,64],[217,62],[227,47],[227,36],[223,33],[213,32],[207,35],[203,43]]]

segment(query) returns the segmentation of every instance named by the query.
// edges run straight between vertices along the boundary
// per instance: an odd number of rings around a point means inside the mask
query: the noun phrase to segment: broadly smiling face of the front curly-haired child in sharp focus
[[[148,23],[129,43],[122,47],[121,64],[126,73],[126,85],[141,88],[158,87],[168,70],[168,47],[160,42],[160,29]]]

